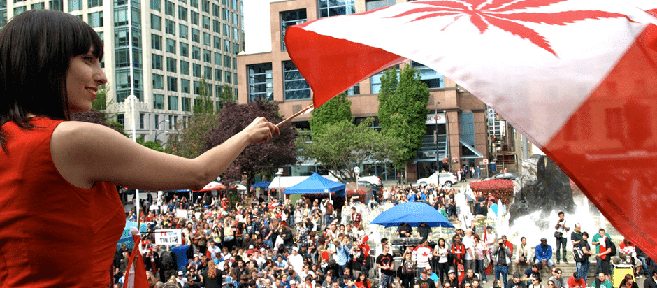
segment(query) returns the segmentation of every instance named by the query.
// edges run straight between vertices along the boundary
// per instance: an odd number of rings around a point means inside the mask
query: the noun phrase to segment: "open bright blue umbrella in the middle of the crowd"
[[[408,223],[413,227],[426,223],[430,227],[454,228],[454,225],[438,210],[422,202],[406,202],[393,206],[370,222],[386,228],[396,227],[402,223]]]

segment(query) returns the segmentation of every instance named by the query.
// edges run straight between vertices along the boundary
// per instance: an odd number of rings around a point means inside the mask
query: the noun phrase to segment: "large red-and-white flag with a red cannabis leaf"
[[[298,24],[285,42],[315,107],[407,59],[442,73],[657,259],[656,16],[654,0],[412,1]]]

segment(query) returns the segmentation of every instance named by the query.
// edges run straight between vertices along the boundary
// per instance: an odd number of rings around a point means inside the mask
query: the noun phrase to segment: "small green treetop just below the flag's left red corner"
[[[335,96],[322,106],[312,110],[312,117],[308,120],[313,137],[320,136],[324,131],[324,127],[340,122],[354,122],[352,101],[347,99],[346,93]]]

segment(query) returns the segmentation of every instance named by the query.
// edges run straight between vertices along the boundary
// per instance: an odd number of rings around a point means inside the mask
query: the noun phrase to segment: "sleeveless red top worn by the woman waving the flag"
[[[0,287],[111,287],[112,260],[125,226],[114,185],[81,189],[62,178],[50,154],[57,124],[1,127]]]

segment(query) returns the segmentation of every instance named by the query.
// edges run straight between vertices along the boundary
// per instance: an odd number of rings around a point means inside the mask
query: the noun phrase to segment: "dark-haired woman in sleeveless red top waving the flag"
[[[111,287],[125,225],[115,185],[201,189],[278,128],[259,117],[185,159],[138,145],[87,112],[103,43],[73,15],[30,10],[0,31],[0,287]]]

